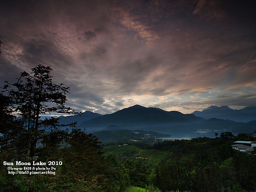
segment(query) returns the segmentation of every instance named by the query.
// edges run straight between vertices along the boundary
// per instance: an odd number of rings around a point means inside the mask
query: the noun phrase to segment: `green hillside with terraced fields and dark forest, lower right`
[[[123,164],[134,186],[150,185],[162,192],[254,192],[256,151],[247,154],[233,149],[236,140],[256,141],[245,134],[234,137],[227,132],[216,138],[105,146],[103,151],[116,156],[112,158]]]

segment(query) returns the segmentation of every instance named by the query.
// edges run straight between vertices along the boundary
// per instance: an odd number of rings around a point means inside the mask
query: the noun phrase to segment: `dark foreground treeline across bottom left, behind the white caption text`
[[[126,175],[120,166],[108,162],[108,158],[102,156],[98,139],[84,131],[74,129],[66,138],[65,147],[56,145],[44,145],[36,149],[38,156],[35,162],[46,162],[46,166],[54,167],[53,174],[9,174],[8,167],[3,161],[31,162],[24,154],[16,156],[17,151],[1,150],[0,165],[0,191],[2,192],[102,192],[123,191],[126,185]],[[20,146],[19,146],[20,148]],[[48,162],[62,162],[62,165],[48,166]],[[32,163],[31,163],[32,165]],[[26,171],[26,170],[25,170]],[[35,171],[30,169],[29,172]],[[41,170],[42,172],[43,170]],[[15,171],[16,172],[16,171]]]

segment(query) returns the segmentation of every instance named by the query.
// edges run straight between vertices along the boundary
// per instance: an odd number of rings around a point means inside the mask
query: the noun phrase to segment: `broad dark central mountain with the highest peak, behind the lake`
[[[146,108],[134,105],[111,114],[85,121],[79,127],[86,127],[88,131],[102,130],[108,125],[117,125],[126,129],[168,127],[175,124],[195,123],[204,120],[193,114],[183,114],[178,111],[164,111],[159,108]]]

